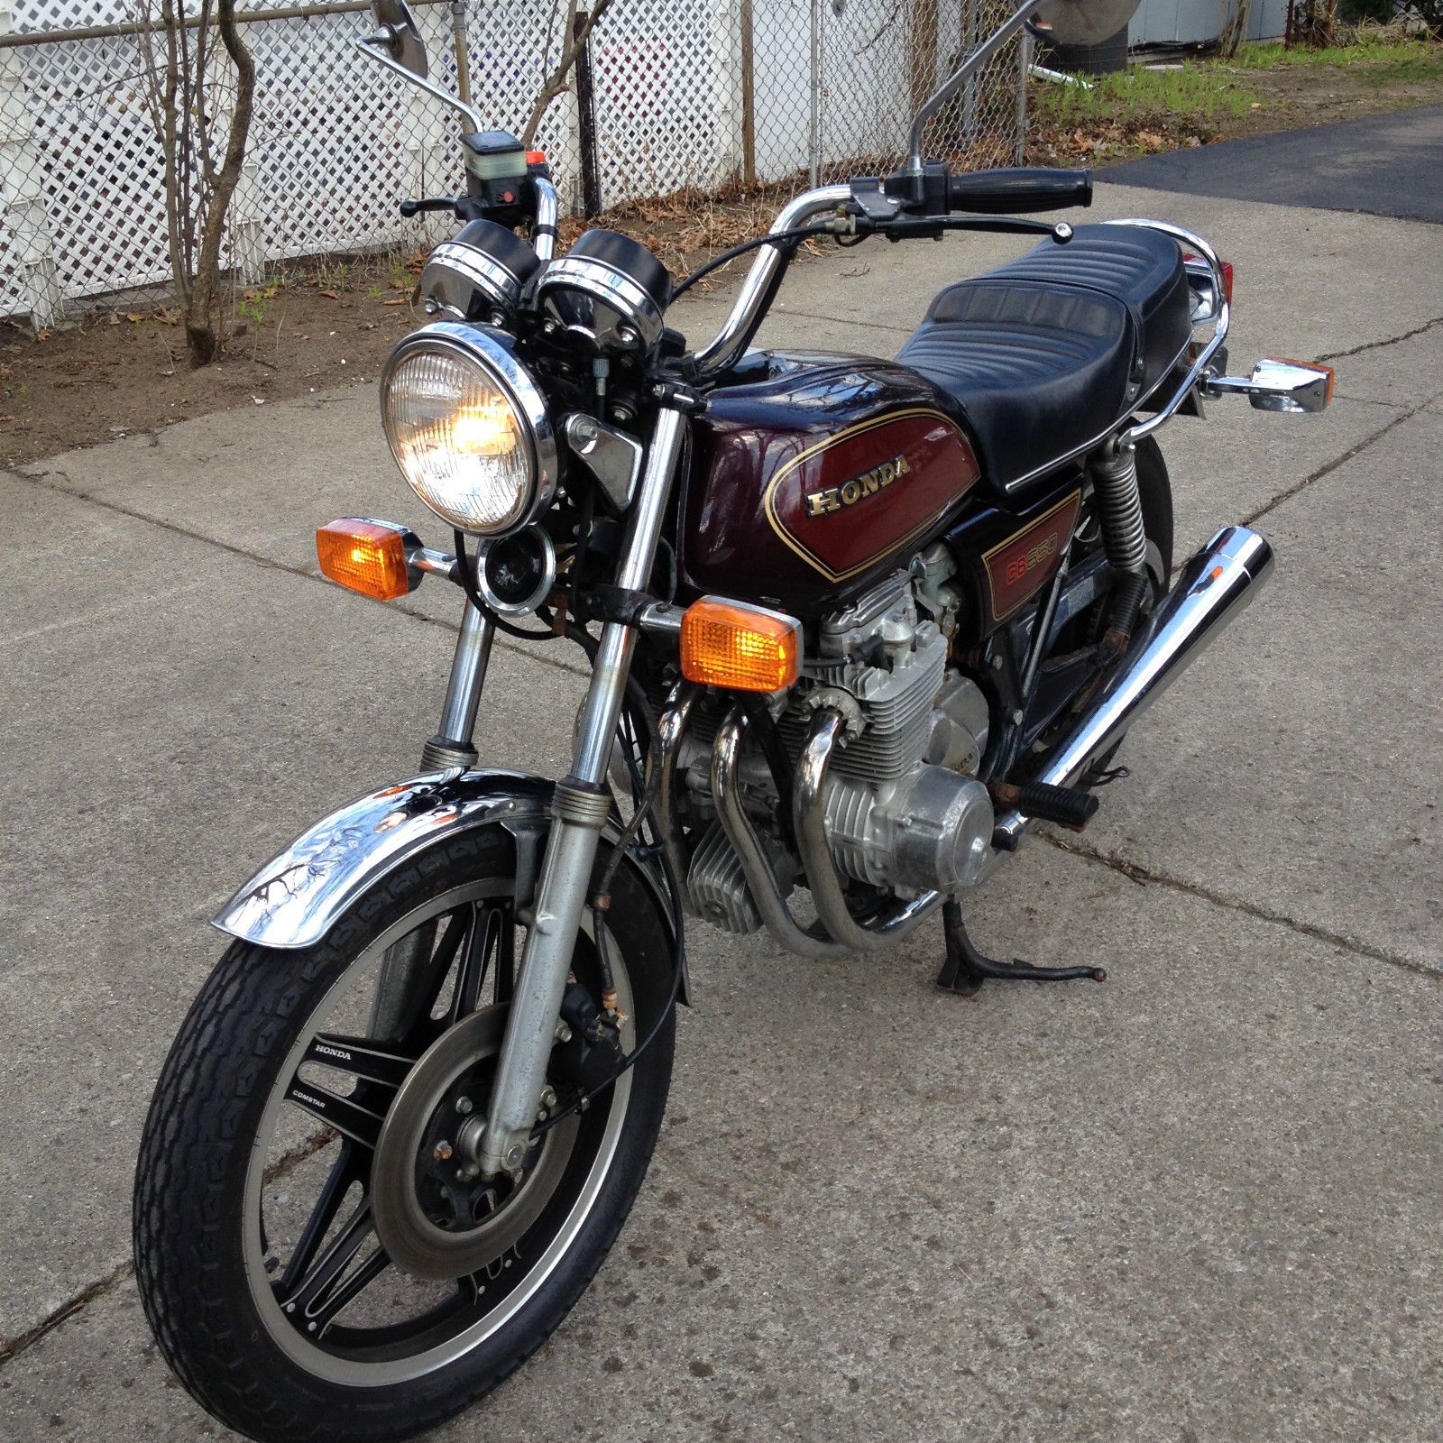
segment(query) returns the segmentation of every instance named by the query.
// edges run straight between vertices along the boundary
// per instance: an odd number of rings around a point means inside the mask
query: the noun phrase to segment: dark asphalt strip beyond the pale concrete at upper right
[[[1098,179],[1443,222],[1443,105],[1146,156]]]

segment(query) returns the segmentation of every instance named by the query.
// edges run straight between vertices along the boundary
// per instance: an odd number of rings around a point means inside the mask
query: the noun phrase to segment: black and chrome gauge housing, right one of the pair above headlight
[[[671,277],[645,245],[616,231],[587,231],[551,261],[535,287],[553,326],[602,352],[646,352],[661,339]]]

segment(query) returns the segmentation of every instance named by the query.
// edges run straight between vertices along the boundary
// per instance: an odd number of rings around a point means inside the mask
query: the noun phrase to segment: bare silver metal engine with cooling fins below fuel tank
[[[928,606],[938,613],[935,590]],[[945,625],[945,612],[938,613]],[[987,746],[987,700],[948,668],[948,638],[899,573],[821,620],[802,678],[776,717],[795,762],[820,709],[846,720],[824,792],[825,833],[846,877],[902,896],[974,885],[987,857],[993,808],[975,772]],[[749,932],[760,925],[740,861],[711,801],[710,747],[720,714],[694,710],[678,758],[691,820],[706,825],[688,873],[697,909],[717,925]],[[755,749],[743,755],[742,791],[785,895],[798,879],[779,817],[772,768]]]

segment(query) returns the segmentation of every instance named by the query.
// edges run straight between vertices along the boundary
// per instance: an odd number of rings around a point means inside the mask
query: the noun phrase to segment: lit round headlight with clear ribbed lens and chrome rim
[[[407,485],[443,521],[499,535],[556,496],[545,403],[509,346],[478,326],[408,335],[381,374],[381,420]]]

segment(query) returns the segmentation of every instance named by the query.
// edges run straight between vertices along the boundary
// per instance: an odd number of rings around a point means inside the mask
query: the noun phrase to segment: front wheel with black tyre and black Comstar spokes
[[[251,1437],[434,1427],[545,1341],[631,1209],[670,1016],[584,1111],[538,1128],[517,1172],[468,1162],[525,931],[512,879],[501,830],[436,843],[319,945],[234,944],[170,1049],[136,1173],[136,1274],[180,1381]],[[670,1006],[671,947],[628,867],[612,899],[629,1052]],[[573,974],[600,997],[590,931]],[[587,1081],[553,1055],[553,1117]]]

